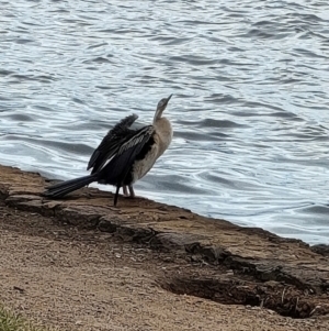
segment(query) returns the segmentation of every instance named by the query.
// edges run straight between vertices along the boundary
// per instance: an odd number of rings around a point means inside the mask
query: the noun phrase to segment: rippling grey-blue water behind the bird
[[[174,93],[174,140],[137,194],[329,243],[327,1],[0,8],[1,164],[86,175],[117,120],[150,123]]]

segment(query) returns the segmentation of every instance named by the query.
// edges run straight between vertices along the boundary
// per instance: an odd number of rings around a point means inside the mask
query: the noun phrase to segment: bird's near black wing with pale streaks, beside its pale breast
[[[117,154],[100,172],[99,183],[122,186],[136,156],[150,140],[154,132],[154,126],[148,125],[138,130],[128,141],[126,141],[120,147]]]

